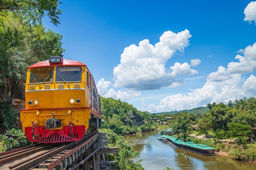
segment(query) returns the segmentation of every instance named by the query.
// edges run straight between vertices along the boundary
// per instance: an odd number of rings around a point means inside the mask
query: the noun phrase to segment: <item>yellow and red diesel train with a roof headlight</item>
[[[101,102],[94,79],[81,62],[49,57],[27,67],[22,130],[29,141],[80,141],[99,130]]]

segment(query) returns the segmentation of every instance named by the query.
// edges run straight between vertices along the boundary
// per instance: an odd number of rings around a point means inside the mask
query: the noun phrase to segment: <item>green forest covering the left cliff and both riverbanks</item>
[[[61,10],[59,0],[0,1],[0,152],[31,144],[17,128],[19,112],[13,99],[24,99],[27,66],[47,60],[49,56],[61,55],[62,35],[45,30],[42,18],[50,18],[57,26]],[[120,99],[101,97],[101,112],[104,120],[100,132],[107,132],[108,146],[118,146],[119,154],[108,155],[115,160],[119,170],[143,170],[124,135],[169,127],[185,141],[195,141],[191,133],[212,135],[206,144],[218,150],[229,151],[232,158],[256,162],[256,99],[244,97],[228,104],[207,104],[206,108],[166,113],[149,113],[137,110]],[[172,117],[172,119],[165,119]],[[155,119],[154,119],[155,118]],[[159,121],[155,121],[159,120]],[[141,126],[132,126],[141,122]],[[162,126],[166,122],[165,126]],[[197,125],[193,129],[192,125]],[[221,139],[236,139],[225,145]],[[202,141],[197,141],[202,142]]]

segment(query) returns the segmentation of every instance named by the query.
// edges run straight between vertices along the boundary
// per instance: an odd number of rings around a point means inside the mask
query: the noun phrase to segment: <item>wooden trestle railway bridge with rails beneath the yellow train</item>
[[[71,143],[35,144],[4,152],[0,170],[116,170],[115,161],[105,154],[118,153],[118,148],[104,148],[106,133],[94,132]]]

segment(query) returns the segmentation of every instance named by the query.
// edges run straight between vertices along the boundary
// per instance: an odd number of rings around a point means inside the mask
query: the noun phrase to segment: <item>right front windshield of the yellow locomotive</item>
[[[81,67],[57,67],[56,82],[78,82],[81,81]]]

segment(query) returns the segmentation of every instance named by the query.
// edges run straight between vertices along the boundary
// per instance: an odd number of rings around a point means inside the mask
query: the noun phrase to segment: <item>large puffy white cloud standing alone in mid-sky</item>
[[[165,67],[166,62],[175,53],[182,53],[189,46],[189,38],[191,34],[187,29],[179,33],[166,31],[155,45],[146,39],[139,42],[139,46],[132,44],[126,47],[121,54],[120,64],[113,70],[113,86],[132,90],[153,90],[177,85],[177,82],[182,81],[182,77],[176,77],[177,74],[196,74],[197,71],[191,70],[187,63],[175,63],[171,70]]]

